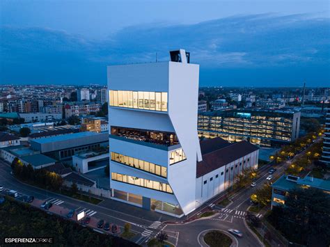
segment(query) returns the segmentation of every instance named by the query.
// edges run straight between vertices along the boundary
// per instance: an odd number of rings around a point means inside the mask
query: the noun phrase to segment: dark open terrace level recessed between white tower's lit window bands
[[[113,126],[111,127],[111,135],[123,136],[136,141],[144,141],[146,143],[155,143],[167,146],[179,144],[178,137],[175,133],[171,132],[157,132],[148,129],[132,129]]]

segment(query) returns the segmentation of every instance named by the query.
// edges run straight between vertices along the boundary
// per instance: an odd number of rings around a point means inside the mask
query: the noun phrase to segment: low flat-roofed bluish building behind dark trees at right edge
[[[293,175],[282,175],[272,184],[272,207],[285,205],[286,197],[292,189],[321,189],[325,193],[330,193],[330,181],[321,180],[315,177],[306,176],[300,178]]]

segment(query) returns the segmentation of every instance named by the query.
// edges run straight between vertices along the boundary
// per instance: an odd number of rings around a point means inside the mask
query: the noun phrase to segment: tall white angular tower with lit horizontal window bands
[[[196,208],[199,65],[171,61],[108,67],[112,196],[182,216]],[[110,117],[111,116],[111,117]]]

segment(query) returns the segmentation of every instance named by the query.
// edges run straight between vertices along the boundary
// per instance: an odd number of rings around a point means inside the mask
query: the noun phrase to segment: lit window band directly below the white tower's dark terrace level
[[[116,161],[126,166],[132,166],[139,170],[144,170],[147,173],[152,173],[158,176],[167,177],[167,168],[164,166],[158,166],[141,159],[135,159],[133,157],[111,152],[111,161]]]

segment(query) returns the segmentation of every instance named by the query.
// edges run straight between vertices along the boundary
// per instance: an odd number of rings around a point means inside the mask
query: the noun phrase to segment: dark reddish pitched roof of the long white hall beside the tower
[[[244,157],[258,149],[259,148],[256,145],[247,141],[240,141],[238,143],[230,143],[230,145],[226,145],[223,148],[203,154],[203,161],[197,162],[196,177],[201,177],[221,166],[226,166],[226,164]]]

